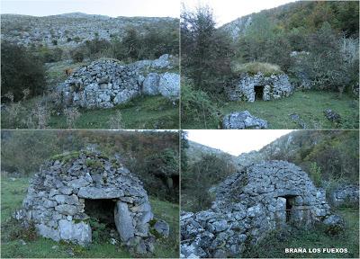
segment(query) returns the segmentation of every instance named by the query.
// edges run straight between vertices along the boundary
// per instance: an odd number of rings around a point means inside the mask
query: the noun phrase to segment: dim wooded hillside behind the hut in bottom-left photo
[[[1,145],[2,170],[15,177],[39,172],[52,156],[94,147],[106,156],[116,155],[139,176],[150,195],[178,201],[178,134],[174,131],[2,130]]]

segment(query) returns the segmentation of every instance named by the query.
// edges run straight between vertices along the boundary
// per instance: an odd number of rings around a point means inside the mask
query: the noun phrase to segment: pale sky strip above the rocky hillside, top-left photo
[[[61,13],[179,17],[179,0],[2,0],[0,13],[47,16]]]

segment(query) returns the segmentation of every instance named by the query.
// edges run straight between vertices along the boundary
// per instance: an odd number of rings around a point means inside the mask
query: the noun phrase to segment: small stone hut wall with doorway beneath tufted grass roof
[[[264,76],[259,72],[254,76],[245,73],[232,81],[228,88],[230,101],[255,102],[281,99],[293,94],[293,86],[286,74]]]

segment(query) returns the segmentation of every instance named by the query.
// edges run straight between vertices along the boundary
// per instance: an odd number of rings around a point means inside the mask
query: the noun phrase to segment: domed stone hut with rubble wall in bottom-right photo
[[[181,215],[182,257],[241,257],[276,228],[311,228],[322,222],[340,231],[325,192],[296,165],[284,161],[249,165],[216,187],[211,209]]]

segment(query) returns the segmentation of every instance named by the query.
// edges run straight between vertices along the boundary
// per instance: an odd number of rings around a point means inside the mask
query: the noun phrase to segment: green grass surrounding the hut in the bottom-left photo
[[[26,189],[29,185],[29,178],[2,177],[1,182],[1,224],[2,224],[2,249],[1,257],[106,257],[121,258],[131,257],[130,253],[121,246],[111,244],[93,244],[89,247],[82,247],[57,243],[47,238],[37,237],[33,241],[26,241],[27,245],[21,244],[20,240],[9,240],[11,226],[6,225],[10,220],[11,213],[20,208]],[[154,257],[178,257],[178,235],[179,235],[179,206],[167,201],[158,201],[150,197],[153,213],[157,219],[165,219],[170,225],[170,234],[167,239],[157,240]],[[54,248],[52,248],[54,247]],[[68,252],[74,253],[70,256]]]

